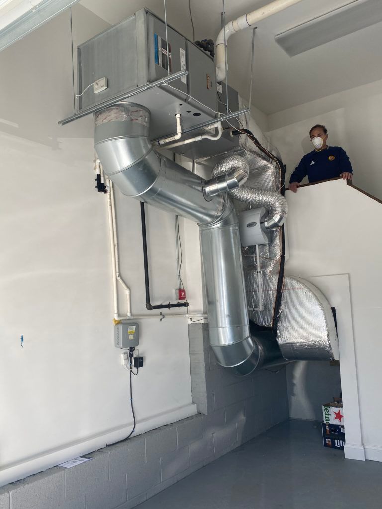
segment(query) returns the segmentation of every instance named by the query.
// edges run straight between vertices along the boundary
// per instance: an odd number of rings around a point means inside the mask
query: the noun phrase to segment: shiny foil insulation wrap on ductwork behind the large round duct
[[[243,108],[239,98],[239,107]],[[264,137],[258,126],[250,119],[241,116],[241,125],[250,129],[264,149],[280,159],[280,154]],[[247,161],[250,172],[245,186],[231,191],[234,207],[237,213],[249,210],[254,206],[264,206],[268,214],[271,212],[271,202],[275,195],[277,212],[285,214],[287,208],[280,195],[281,175],[277,163],[262,152],[245,134],[240,135],[239,147],[220,154],[221,161],[215,165],[216,156],[205,158],[213,161],[216,175],[227,173],[225,161],[231,157],[240,157]],[[265,194],[264,191],[266,191]],[[263,196],[268,197],[268,203]],[[282,200],[281,200],[282,199]],[[275,209],[274,209],[275,210]],[[263,309],[256,310],[261,302],[259,295],[256,246],[242,247],[242,261],[244,270],[245,289],[249,306],[250,321],[263,327],[271,327],[276,299],[278,271],[281,259],[280,228],[270,232],[270,242],[259,245],[260,270],[262,277]],[[338,359],[338,338],[334,326],[333,313],[324,295],[313,285],[301,279],[286,277],[282,292],[282,302],[278,321],[277,341],[281,353],[289,360],[326,360]]]

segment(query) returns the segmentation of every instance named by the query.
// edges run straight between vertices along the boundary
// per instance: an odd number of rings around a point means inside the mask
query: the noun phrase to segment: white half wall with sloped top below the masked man
[[[382,382],[382,239],[377,233],[382,204],[342,180],[304,187],[296,194],[287,191],[286,197],[290,249],[286,273],[307,278],[349,275],[362,439],[366,458],[382,461],[382,401],[376,394]]]

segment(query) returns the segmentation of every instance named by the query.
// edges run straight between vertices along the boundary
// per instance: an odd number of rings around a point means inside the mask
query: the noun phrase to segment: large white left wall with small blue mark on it
[[[73,9],[75,44],[104,27]],[[114,347],[107,199],[94,189],[92,118],[57,124],[73,112],[69,12],[0,53],[0,68],[1,485],[124,438],[132,416],[128,371]],[[152,301],[166,302],[177,288],[174,216],[151,208],[147,215]],[[139,202],[117,191],[117,216],[132,309],[148,313]],[[187,319],[141,320],[139,350],[137,433],[195,413]]]

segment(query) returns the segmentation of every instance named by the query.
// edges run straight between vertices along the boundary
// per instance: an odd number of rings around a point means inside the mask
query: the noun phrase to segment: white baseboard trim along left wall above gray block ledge
[[[197,413],[195,403],[190,403],[179,408],[175,408],[168,412],[163,412],[142,419],[137,423],[134,436],[155,430],[161,426],[166,426],[185,417],[190,417]],[[84,438],[81,441],[67,444],[60,449],[47,451],[41,456],[34,458],[25,458],[19,463],[13,465],[5,465],[0,468],[0,486],[13,483],[15,480],[23,479],[29,475],[47,470],[48,468],[64,463],[65,461],[92,453],[94,450],[101,449],[106,445],[124,440],[131,431],[131,424],[121,426],[112,430],[105,430],[98,435]]]

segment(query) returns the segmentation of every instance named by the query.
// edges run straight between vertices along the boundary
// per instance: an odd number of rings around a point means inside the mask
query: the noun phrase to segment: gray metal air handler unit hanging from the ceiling
[[[75,116],[101,109],[113,99],[131,93],[126,102],[142,104],[150,110],[150,139],[153,141],[174,134],[176,114],[181,114],[182,130],[187,132],[187,129],[219,118],[217,111],[227,112],[223,104],[225,86],[217,93],[213,59],[169,25],[166,30],[165,23],[147,9],[79,45],[77,57],[80,97]],[[169,73],[183,70],[188,74],[145,90]],[[106,78],[107,87],[104,90],[96,91],[90,86],[103,78]],[[235,111],[237,92],[229,89],[229,98],[230,108]],[[231,122],[237,123],[236,119]],[[223,126],[228,127],[228,124],[223,123]],[[205,129],[194,130],[188,137],[205,132]],[[182,139],[186,137],[187,134]],[[237,138],[227,132],[216,142],[202,140],[173,150],[196,159],[236,147]]]

